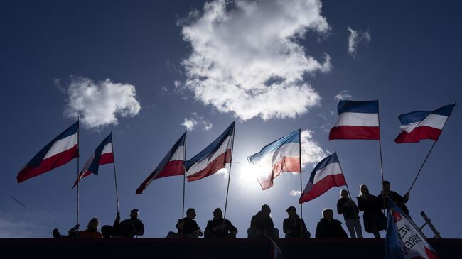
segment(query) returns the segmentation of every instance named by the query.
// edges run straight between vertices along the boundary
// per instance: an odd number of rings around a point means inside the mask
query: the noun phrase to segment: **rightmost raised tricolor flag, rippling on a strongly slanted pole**
[[[420,142],[421,139],[438,140],[453,108],[454,104],[451,104],[434,111],[413,111],[409,114],[399,115],[401,133],[394,139],[394,142]]]

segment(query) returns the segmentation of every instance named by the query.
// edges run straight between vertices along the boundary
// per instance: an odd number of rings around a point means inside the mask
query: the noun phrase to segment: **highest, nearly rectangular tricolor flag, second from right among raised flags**
[[[329,140],[380,139],[379,101],[340,101]]]

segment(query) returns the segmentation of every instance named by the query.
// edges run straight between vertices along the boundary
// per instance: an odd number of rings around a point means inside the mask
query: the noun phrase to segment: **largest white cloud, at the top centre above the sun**
[[[303,75],[328,72],[331,58],[318,62],[297,40],[330,30],[321,1],[215,0],[180,24],[192,46],[182,87],[196,100],[242,120],[294,118],[319,104]]]

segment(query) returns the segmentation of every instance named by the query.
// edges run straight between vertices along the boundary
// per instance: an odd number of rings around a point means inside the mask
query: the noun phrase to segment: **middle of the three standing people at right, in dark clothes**
[[[380,210],[380,201],[374,195],[369,193],[366,184],[360,186],[360,196],[358,199],[358,208],[364,211],[362,219],[364,220],[364,230],[373,233],[375,238],[380,238],[379,231],[387,228],[387,220]]]

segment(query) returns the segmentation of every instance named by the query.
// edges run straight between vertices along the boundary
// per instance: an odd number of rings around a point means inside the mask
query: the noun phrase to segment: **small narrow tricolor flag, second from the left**
[[[112,163],[114,163],[114,151],[112,150],[112,133],[110,133],[109,136],[104,138],[102,143],[98,145],[90,159],[87,160],[84,167],[82,168],[82,171],[80,171],[79,179],[75,180],[72,189],[83,177],[87,177],[92,173],[98,175],[98,169],[100,168],[100,165]]]

